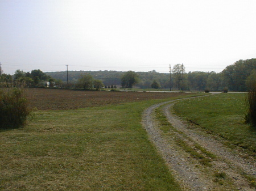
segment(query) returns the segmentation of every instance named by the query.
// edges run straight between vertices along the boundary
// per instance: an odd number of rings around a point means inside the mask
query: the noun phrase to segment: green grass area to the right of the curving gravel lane
[[[246,94],[218,94],[179,101],[176,114],[239,146],[245,154],[256,155],[256,131],[245,124]]]

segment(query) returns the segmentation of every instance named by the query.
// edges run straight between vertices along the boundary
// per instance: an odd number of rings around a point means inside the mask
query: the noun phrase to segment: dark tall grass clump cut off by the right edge
[[[256,84],[251,87],[246,96],[245,122],[256,129]]]

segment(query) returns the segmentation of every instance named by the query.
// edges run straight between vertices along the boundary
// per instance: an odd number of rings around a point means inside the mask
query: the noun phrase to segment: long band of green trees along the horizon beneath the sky
[[[50,87],[80,87],[84,89],[100,87],[122,87],[122,88],[166,88],[184,91],[247,91],[248,84],[255,82],[256,59],[239,60],[233,65],[227,66],[221,73],[203,71],[185,71],[185,66],[176,64],[170,73],[158,73],[155,70],[148,72],[134,71],[59,71],[43,73],[40,70],[32,70],[24,73],[16,70],[15,74],[0,75],[1,84],[15,82],[18,86],[26,84],[27,87],[46,86]],[[86,85],[85,79],[89,80]]]

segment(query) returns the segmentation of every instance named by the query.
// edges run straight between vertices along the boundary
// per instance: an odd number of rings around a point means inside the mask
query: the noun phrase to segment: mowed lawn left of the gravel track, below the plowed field
[[[1,130],[0,189],[180,190],[141,125],[160,101],[36,111]]]

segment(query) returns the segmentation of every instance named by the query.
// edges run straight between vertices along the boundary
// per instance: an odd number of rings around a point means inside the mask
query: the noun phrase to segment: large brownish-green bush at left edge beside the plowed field
[[[0,90],[0,129],[19,128],[26,124],[31,113],[23,90],[7,88]]]

